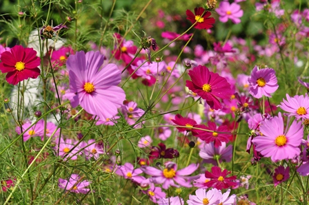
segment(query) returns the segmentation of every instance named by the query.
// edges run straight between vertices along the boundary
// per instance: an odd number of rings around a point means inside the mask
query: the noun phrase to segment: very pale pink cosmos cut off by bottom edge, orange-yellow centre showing
[[[195,191],[195,195],[189,195],[188,205],[205,205],[219,204],[222,193],[217,188],[206,191],[205,188],[199,188]]]

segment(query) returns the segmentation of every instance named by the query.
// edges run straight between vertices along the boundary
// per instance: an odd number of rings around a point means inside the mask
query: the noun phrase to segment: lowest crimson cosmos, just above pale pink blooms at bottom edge
[[[236,182],[232,182],[233,180],[236,180],[236,176],[226,177],[230,171],[227,171],[226,169],[221,171],[219,166],[212,166],[211,171],[212,173],[209,171],[205,172],[205,177],[211,179],[209,182],[206,182],[205,186],[221,190],[222,188],[237,185]]]

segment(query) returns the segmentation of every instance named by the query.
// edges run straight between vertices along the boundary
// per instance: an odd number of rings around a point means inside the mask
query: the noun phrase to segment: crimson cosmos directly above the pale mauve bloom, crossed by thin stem
[[[206,127],[208,130],[212,130],[214,132],[209,131],[203,131],[199,133],[198,137],[205,141],[206,143],[214,142],[215,147],[220,147],[221,142],[228,143],[229,140],[229,134],[227,133],[218,133],[218,132],[228,132],[228,127],[226,125],[221,125],[217,127],[215,122],[208,122],[208,127]]]

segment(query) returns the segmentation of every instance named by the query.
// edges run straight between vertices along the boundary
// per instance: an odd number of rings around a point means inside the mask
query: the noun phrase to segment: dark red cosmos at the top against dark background
[[[195,14],[193,14],[190,10],[186,11],[187,19],[191,21],[191,23],[197,23],[195,24],[195,28],[197,29],[208,29],[212,28],[213,24],[215,23],[214,18],[210,18],[211,13],[210,12],[203,12],[205,9],[203,8],[195,8]]]

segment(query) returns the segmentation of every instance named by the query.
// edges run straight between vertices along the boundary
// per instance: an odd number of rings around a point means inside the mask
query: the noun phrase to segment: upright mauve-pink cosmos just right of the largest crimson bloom
[[[272,68],[258,69],[255,66],[248,82],[250,83],[249,93],[255,98],[271,97],[270,94],[274,93],[279,87],[276,72]]]

